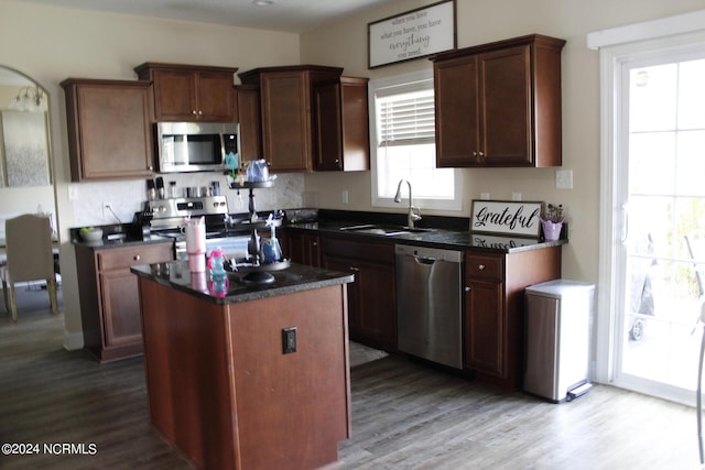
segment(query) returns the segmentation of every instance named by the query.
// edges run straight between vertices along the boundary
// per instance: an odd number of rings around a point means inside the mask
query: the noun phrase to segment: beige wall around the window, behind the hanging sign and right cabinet
[[[397,0],[373,11],[303,34],[302,63],[345,68],[349,75],[387,77],[432,68],[425,58],[367,69],[367,23],[436,0]],[[468,47],[524,34],[540,33],[567,41],[563,50],[563,168],[573,171],[573,189],[555,188],[555,168],[476,168],[463,171],[462,212],[480,193],[494,199],[563,204],[571,222],[570,244],[563,248],[563,275],[597,282],[599,216],[599,63],[586,47],[592,31],[662,18],[703,8],[702,0],[457,0],[457,44]],[[348,189],[349,204],[340,190]],[[306,175],[306,190],[321,206],[370,210],[370,174]],[[422,214],[433,214],[421,209]],[[399,208],[399,212],[403,212]]]

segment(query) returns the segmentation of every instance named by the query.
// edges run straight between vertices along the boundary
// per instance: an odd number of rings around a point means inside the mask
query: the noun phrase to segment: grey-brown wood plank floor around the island
[[[41,448],[0,455],[0,468],[189,468],[150,428],[141,358],[101,365],[65,351],[46,293],[18,300],[17,325],[0,313],[0,445]],[[610,386],[554,405],[400,357],[354,367],[351,384],[336,470],[699,468],[694,409]],[[44,451],[64,442],[85,455]]]

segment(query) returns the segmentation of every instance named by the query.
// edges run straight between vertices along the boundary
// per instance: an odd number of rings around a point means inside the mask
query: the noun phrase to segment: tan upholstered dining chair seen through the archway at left
[[[0,266],[4,309],[18,320],[14,284],[29,281],[46,281],[52,313],[57,313],[56,275],[52,251],[52,226],[47,216],[25,214],[4,222],[7,261]]]

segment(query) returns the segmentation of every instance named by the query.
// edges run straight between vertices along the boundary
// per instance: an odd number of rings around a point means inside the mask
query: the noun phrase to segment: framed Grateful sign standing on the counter
[[[543,203],[473,200],[470,231],[539,237]]]

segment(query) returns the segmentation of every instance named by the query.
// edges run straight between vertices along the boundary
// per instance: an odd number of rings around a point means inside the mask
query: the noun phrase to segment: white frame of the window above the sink
[[[412,72],[406,74],[394,75],[391,77],[372,79],[368,84],[368,102],[370,116],[370,175],[371,175],[371,205],[372,207],[399,208],[400,204],[394,203],[392,197],[383,197],[378,194],[378,132],[377,132],[377,109],[376,96],[378,90],[399,87],[400,92],[412,91],[419,89],[419,83],[429,81],[433,87],[433,69]],[[413,85],[412,85],[413,84]],[[425,88],[425,87],[422,87]],[[389,95],[389,94],[386,94]],[[449,168],[453,171],[453,199],[429,199],[414,196],[414,206],[421,209],[435,209],[448,211],[463,210],[463,190],[462,190],[462,173],[458,168]],[[408,197],[403,194],[402,197]],[[405,204],[405,200],[402,201]],[[405,207],[405,206],[404,206]]]

